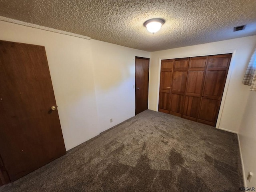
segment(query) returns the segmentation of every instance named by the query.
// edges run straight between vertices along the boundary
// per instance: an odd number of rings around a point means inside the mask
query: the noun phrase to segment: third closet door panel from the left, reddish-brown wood
[[[207,58],[207,56],[190,58],[183,118],[194,121],[198,119]]]

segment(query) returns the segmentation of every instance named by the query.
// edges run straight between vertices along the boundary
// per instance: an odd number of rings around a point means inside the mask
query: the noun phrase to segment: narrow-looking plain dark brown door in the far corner
[[[135,58],[135,115],[148,109],[149,58]]]

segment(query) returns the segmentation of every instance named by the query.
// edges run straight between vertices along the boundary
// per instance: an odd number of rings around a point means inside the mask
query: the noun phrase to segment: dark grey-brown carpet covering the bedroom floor
[[[237,135],[146,110],[1,192],[236,192]]]

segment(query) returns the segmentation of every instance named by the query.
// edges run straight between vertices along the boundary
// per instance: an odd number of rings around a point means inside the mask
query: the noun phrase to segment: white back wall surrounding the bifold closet
[[[250,36],[151,52],[149,109],[158,110],[161,59],[233,53],[216,127],[238,132],[249,94],[242,79],[255,44],[256,36]]]

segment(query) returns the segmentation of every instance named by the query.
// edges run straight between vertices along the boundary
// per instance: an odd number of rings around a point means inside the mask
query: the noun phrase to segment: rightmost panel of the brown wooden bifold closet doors
[[[208,56],[198,122],[216,126],[231,56]]]

